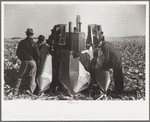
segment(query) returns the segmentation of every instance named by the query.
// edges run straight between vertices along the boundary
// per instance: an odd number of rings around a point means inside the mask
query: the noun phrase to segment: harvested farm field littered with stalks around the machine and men
[[[75,96],[70,96],[66,92],[52,94],[45,93],[42,96],[29,96],[20,94],[17,97],[12,96],[12,87],[16,81],[20,61],[16,56],[16,48],[19,39],[7,40],[4,42],[4,99],[5,100],[145,100],[145,37],[118,37],[106,38],[114,44],[117,50],[122,54],[122,65],[124,74],[124,90],[118,95],[114,90],[114,82],[111,73],[111,83],[106,97],[101,97],[97,84],[93,84]]]

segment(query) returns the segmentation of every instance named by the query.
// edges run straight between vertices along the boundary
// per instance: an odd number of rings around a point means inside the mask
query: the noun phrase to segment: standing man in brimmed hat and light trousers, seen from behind
[[[21,66],[18,73],[18,80],[16,81],[13,94],[18,95],[21,81],[26,79],[24,92],[32,95],[36,88],[36,62],[39,62],[40,54],[37,44],[33,41],[33,29],[28,28],[26,31],[27,37],[21,40],[18,44],[16,55],[21,60]]]

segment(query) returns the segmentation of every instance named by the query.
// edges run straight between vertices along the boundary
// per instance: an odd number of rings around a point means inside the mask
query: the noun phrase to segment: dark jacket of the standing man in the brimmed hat
[[[35,60],[37,62],[40,58],[37,44],[29,37],[19,42],[16,55],[21,61]]]

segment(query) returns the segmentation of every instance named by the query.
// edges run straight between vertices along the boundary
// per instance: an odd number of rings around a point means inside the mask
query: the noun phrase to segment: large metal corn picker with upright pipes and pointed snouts
[[[53,80],[56,84],[63,84],[72,94],[88,88],[91,76],[93,79],[96,77],[93,72],[96,73],[97,64],[92,71],[91,62],[102,31],[101,25],[89,24],[88,36],[85,37],[85,33],[81,32],[81,24],[80,16],[77,15],[74,29],[72,22],[69,22],[69,32],[66,32],[66,24],[55,25],[48,39],[52,52]],[[99,57],[99,64],[102,64],[103,55]],[[98,72],[98,84],[105,91],[108,87],[108,74],[100,69]]]

